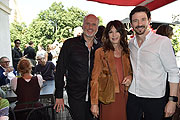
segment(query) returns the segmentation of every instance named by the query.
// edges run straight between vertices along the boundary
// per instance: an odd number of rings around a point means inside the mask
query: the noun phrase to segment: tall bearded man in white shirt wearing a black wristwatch
[[[179,83],[178,67],[169,38],[148,29],[151,14],[144,6],[135,7],[130,22],[135,37],[129,41],[133,80],[129,88],[127,120],[161,120],[174,114]],[[169,101],[165,91],[168,73]]]

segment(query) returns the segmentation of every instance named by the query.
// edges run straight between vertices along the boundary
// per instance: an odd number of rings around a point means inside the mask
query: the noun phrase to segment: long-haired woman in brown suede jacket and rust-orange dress
[[[127,89],[131,84],[132,71],[129,59],[127,33],[124,25],[110,21],[103,34],[103,46],[95,53],[94,68],[91,80],[91,111],[100,120],[126,120]],[[115,102],[100,103],[98,107],[98,77],[103,72],[103,64],[109,65],[114,81]],[[106,83],[104,83],[106,84]]]

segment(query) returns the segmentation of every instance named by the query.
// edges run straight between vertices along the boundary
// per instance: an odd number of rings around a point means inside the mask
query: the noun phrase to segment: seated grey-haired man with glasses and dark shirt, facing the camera
[[[44,80],[54,80],[55,65],[42,55],[37,56],[37,61],[34,73],[41,74]]]

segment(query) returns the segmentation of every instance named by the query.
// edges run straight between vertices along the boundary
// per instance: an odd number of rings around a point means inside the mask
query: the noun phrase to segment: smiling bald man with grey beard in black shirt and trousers
[[[94,63],[94,53],[100,44],[95,39],[99,19],[89,14],[83,21],[83,34],[66,40],[61,49],[55,75],[54,108],[57,112],[64,108],[63,88],[66,76],[68,103],[73,112],[73,120],[93,120],[90,112],[89,83]]]

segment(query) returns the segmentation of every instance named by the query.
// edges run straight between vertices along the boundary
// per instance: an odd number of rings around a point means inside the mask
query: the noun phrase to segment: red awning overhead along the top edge
[[[176,0],[87,0],[118,6],[146,6],[151,11]]]

